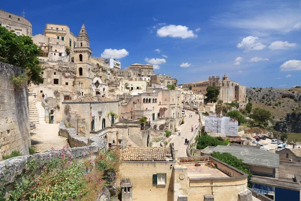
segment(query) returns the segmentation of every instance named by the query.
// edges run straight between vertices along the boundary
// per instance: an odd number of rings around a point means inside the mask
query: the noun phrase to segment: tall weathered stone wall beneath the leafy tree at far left
[[[17,87],[13,76],[24,69],[0,62],[0,160],[14,150],[29,154],[30,126],[27,85]]]

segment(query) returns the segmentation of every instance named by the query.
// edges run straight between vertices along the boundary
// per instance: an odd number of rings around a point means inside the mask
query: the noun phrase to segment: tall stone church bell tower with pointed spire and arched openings
[[[74,62],[76,63],[76,77],[79,82],[80,95],[92,95],[92,78],[91,78],[91,54],[92,50],[89,48],[90,39],[87,34],[85,24],[83,23],[79,34],[77,36],[76,47],[74,48]]]

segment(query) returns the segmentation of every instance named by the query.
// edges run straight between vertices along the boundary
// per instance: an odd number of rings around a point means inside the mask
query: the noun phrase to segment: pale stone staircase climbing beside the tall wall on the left
[[[45,110],[42,106],[42,102],[29,102],[29,120],[34,124],[46,124]]]

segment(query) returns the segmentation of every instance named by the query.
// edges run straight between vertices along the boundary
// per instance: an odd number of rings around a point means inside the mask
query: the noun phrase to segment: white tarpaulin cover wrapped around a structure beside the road
[[[226,136],[237,136],[238,121],[230,117],[205,117],[205,132],[225,133]]]

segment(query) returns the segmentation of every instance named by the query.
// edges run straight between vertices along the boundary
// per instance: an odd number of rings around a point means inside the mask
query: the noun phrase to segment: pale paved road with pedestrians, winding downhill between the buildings
[[[193,115],[191,118],[189,118],[190,113]],[[180,126],[181,136],[178,136],[178,134],[172,135],[172,140],[170,141],[174,143],[175,150],[178,150],[177,157],[187,157],[187,145],[184,144],[185,138],[190,140],[194,134],[194,132],[191,132],[191,127],[193,126],[195,131],[195,125],[199,125],[199,115],[196,115],[194,112],[186,111],[185,124]]]

